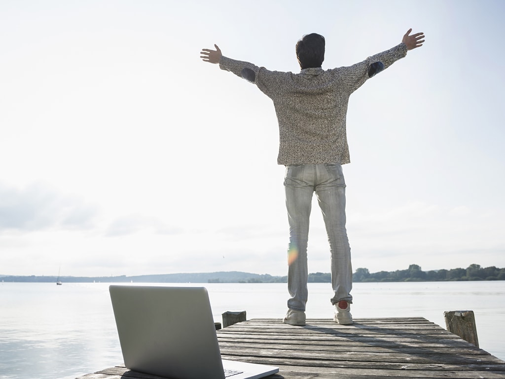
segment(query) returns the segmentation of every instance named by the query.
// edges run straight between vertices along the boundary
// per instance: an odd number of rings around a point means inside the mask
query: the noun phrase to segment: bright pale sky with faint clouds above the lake
[[[354,269],[505,267],[501,1],[0,2],[0,274],[287,274],[271,100],[200,60],[298,72],[425,44],[352,94]],[[329,272],[314,197],[309,272]]]

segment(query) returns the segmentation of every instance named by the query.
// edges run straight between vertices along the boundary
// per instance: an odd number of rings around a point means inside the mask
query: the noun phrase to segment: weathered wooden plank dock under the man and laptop
[[[251,319],[217,334],[223,358],[278,366],[268,379],[505,378],[505,361],[422,317],[353,325],[308,319],[305,326]],[[157,376],[117,366],[78,379],[121,378]]]

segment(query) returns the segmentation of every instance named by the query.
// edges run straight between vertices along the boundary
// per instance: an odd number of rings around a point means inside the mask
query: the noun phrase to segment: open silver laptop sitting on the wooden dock
[[[170,379],[257,379],[278,367],[221,359],[203,287],[109,287],[125,366]],[[226,375],[225,375],[226,372]]]

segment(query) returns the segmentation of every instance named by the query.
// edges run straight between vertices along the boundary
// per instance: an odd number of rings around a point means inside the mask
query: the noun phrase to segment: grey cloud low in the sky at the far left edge
[[[0,183],[0,231],[89,229],[97,215],[97,205],[42,182],[24,188]]]

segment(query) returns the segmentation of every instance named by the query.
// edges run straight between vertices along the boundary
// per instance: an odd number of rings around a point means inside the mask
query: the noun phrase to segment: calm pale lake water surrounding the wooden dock
[[[154,284],[160,286],[161,284]],[[181,286],[180,284],[172,286]],[[205,283],[214,320],[284,316],[286,283]],[[480,347],[505,360],[505,281],[355,283],[355,318],[473,310]],[[309,283],[307,317],[332,317],[329,283]],[[0,283],[0,378],[72,379],[122,364],[108,283]]]

